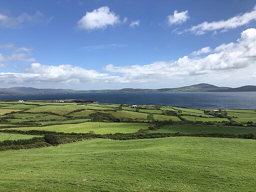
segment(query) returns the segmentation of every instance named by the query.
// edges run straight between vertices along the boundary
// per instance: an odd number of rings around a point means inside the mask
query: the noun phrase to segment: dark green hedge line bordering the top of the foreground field
[[[159,126],[159,125],[156,125]],[[135,133],[114,133],[114,134],[95,134],[93,131],[89,133],[65,133],[45,130],[14,130],[5,129],[0,132],[44,135],[43,137],[33,137],[29,139],[4,140],[0,142],[0,150],[34,148],[44,146],[56,146],[58,144],[81,141],[91,138],[104,138],[113,140],[130,140],[145,138],[161,138],[172,136],[196,136],[196,137],[221,137],[221,138],[243,138],[256,139],[256,134],[226,134],[226,133],[148,133],[147,131],[137,131]]]

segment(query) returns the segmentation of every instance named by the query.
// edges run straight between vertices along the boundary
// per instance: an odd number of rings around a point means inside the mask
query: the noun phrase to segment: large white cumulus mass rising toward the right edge
[[[204,47],[194,54],[209,51]],[[249,71],[256,68],[256,29],[249,28],[241,32],[236,43],[221,44],[214,52],[204,57],[183,56],[177,60],[154,62],[146,65],[115,66],[108,64],[106,71],[118,72],[133,82],[155,82],[163,79],[188,79],[200,75],[212,79],[224,79],[227,74],[237,71]],[[253,71],[254,71],[253,70]],[[228,72],[227,72],[228,71]],[[242,73],[240,73],[242,76]]]

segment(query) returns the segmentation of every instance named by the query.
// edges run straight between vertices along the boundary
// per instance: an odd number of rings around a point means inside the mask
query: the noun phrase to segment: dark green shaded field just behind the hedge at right
[[[149,132],[163,132],[163,133],[227,133],[227,134],[256,134],[255,127],[245,126],[217,126],[217,125],[193,125],[193,124],[168,124],[160,129],[150,130]]]

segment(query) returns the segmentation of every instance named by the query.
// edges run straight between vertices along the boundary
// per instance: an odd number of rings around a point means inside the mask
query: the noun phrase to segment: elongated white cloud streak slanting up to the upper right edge
[[[249,22],[256,20],[256,6],[253,7],[251,12],[245,12],[243,14],[238,14],[227,20],[218,20],[212,22],[202,22],[196,26],[192,26],[187,29],[188,31],[195,34],[204,34],[208,31],[220,30],[220,32],[225,32],[231,28],[237,28],[241,25],[248,24]]]

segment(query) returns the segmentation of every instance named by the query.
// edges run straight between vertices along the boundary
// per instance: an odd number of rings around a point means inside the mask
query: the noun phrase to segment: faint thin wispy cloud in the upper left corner
[[[30,15],[26,12],[19,16],[8,16],[0,13],[0,27],[5,28],[19,28],[24,23],[38,23],[43,20],[43,14],[40,11],[36,11],[34,15]]]

